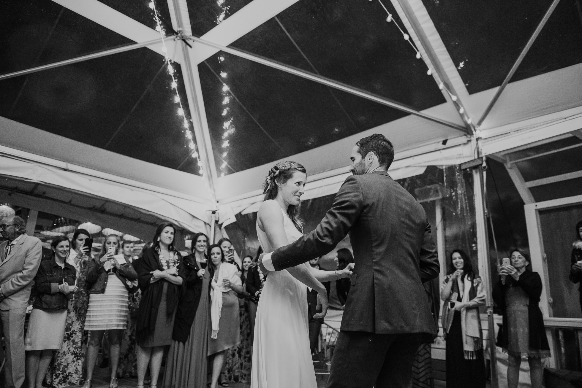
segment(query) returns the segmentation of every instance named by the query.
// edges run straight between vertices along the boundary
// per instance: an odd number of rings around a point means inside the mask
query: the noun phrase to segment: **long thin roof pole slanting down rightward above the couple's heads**
[[[180,0],[180,1],[185,1],[185,0]],[[334,81],[334,80],[329,79],[327,77],[322,77],[322,76],[317,75],[317,74],[305,72],[304,70],[300,70],[300,69],[296,69],[295,67],[292,67],[292,66],[284,65],[283,63],[276,62],[275,60],[263,58],[262,56],[259,56],[259,55],[249,54],[248,52],[240,51],[240,50],[233,49],[230,47],[221,46],[221,45],[215,44],[213,42],[203,40],[201,38],[190,37],[190,39],[193,40],[194,42],[199,42],[201,44],[217,48],[219,51],[228,52],[229,54],[240,56],[240,58],[252,60],[253,62],[260,63],[261,65],[273,67],[274,69],[281,70],[281,71],[289,73],[289,74],[293,74],[294,76],[298,76],[298,77],[301,77],[301,78],[304,78],[304,79],[307,79],[310,81],[314,81],[314,82],[323,84],[325,86],[329,86],[329,87],[338,89],[340,91],[344,91],[344,92],[347,92],[347,93],[350,93],[353,95],[357,95],[358,97],[369,99],[370,101],[378,102],[378,104],[389,106],[390,108],[398,109],[399,111],[409,113],[410,115],[415,115],[415,116],[421,117],[423,119],[431,120],[432,122],[443,124],[447,127],[459,130],[463,134],[467,134],[467,130],[463,126],[457,125],[455,123],[451,123],[447,120],[436,118],[436,117],[428,115],[427,113],[424,113],[424,112],[416,111],[415,109],[410,108],[409,106],[400,104],[399,102],[392,101],[391,99],[388,99],[388,98],[380,97],[380,96],[372,94],[370,92],[360,90],[359,88],[355,88],[355,87],[340,83],[338,81]]]

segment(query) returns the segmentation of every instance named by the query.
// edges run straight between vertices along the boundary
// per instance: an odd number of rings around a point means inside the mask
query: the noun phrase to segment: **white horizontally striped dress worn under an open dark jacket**
[[[85,330],[127,329],[129,294],[115,273],[109,273],[105,292],[90,294]]]

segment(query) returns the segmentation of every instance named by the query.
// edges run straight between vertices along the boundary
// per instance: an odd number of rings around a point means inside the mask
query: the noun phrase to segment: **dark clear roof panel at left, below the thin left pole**
[[[181,69],[173,67],[190,119]],[[164,57],[139,48],[2,80],[0,116],[198,174],[171,83]]]

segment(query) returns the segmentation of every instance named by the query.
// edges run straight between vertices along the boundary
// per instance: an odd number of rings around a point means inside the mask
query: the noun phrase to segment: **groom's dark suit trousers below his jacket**
[[[328,388],[409,388],[422,333],[339,333]]]

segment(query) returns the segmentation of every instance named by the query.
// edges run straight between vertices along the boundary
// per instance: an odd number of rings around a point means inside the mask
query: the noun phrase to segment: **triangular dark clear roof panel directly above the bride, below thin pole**
[[[407,116],[224,52],[198,69],[219,175],[288,158]]]

